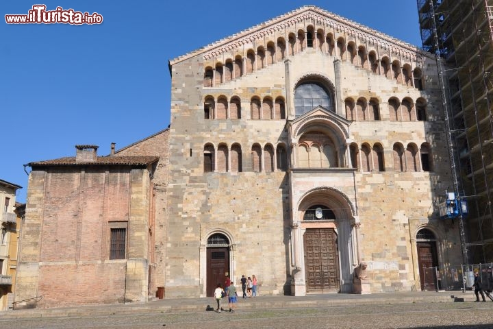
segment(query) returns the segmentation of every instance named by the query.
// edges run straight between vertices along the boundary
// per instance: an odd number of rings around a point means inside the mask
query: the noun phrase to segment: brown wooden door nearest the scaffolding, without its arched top
[[[436,243],[418,242],[418,267],[420,271],[421,290],[436,290],[438,257],[436,253]]]

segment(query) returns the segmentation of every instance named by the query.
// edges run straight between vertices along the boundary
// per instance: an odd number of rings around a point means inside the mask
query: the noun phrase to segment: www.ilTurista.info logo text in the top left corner
[[[75,12],[73,9],[57,7],[55,10],[46,10],[46,5],[33,5],[27,14],[5,15],[7,24],[101,24],[103,16],[94,12]]]

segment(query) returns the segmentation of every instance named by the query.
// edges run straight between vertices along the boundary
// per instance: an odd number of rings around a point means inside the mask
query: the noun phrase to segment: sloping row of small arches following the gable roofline
[[[342,36],[334,40],[333,34],[324,34],[322,29],[315,33],[313,27],[307,27],[306,33],[303,29],[299,29],[297,34],[290,33],[287,43],[285,38],[279,37],[277,42],[268,41],[266,47],[248,49],[246,56],[238,54],[234,58],[226,58],[224,62],[216,62],[214,67],[206,66],[203,84],[205,87],[218,86],[264,69],[275,62],[281,62],[287,56],[294,56],[307,48],[319,49],[372,73],[395,80],[399,84],[422,90],[422,70],[419,67],[413,69],[409,63],[401,65],[401,60],[392,59],[388,55],[379,58],[377,51],[368,52],[365,45],[357,45],[353,40],[346,42]]]

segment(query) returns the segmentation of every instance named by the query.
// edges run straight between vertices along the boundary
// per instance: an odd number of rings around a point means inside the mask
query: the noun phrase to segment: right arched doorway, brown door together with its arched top
[[[427,228],[419,230],[416,234],[416,249],[418,252],[421,290],[439,290],[441,278],[438,271],[435,234]]]

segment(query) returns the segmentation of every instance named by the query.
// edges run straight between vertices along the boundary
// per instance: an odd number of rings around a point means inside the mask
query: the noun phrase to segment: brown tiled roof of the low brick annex
[[[147,166],[157,160],[159,160],[159,156],[98,156],[96,161],[75,162],[75,156],[68,156],[66,158],[29,162],[29,166]]]

